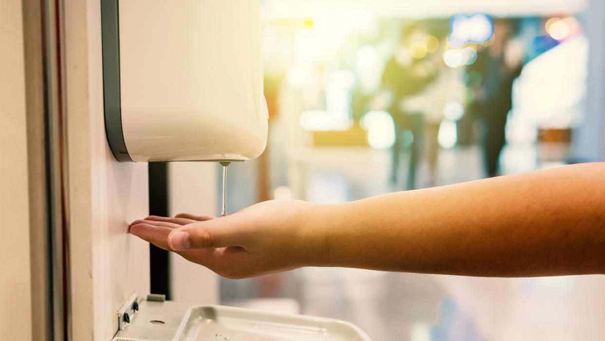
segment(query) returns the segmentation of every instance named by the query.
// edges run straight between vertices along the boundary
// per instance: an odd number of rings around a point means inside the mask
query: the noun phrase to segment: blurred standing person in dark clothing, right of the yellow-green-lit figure
[[[520,48],[513,38],[512,22],[494,20],[491,45],[477,53],[477,60],[468,68],[469,73],[482,74],[482,81],[474,88],[475,110],[482,123],[481,145],[485,173],[499,173],[499,159],[506,143],[505,127],[512,108],[512,84],[523,68]]]

